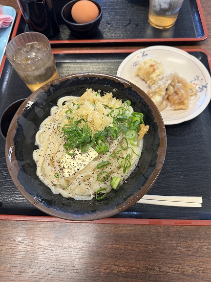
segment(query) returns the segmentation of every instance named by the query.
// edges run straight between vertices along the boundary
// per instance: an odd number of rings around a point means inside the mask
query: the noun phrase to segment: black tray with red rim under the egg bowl
[[[184,0],[175,25],[167,30],[159,30],[148,24],[148,0],[98,0],[102,5],[103,19],[98,31],[85,39],[71,35],[63,24],[61,10],[67,2],[54,0],[60,33],[50,39],[51,44],[186,42],[201,41],[208,36],[200,0]],[[29,31],[28,26],[19,12],[12,38],[26,31]]]

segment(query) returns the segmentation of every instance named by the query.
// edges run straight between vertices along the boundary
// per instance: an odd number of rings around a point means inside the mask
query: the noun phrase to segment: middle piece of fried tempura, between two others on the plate
[[[167,89],[169,84],[176,85],[178,74],[174,71],[169,74],[160,75],[156,84],[147,91],[148,96],[152,99],[158,109],[161,111],[167,106]]]

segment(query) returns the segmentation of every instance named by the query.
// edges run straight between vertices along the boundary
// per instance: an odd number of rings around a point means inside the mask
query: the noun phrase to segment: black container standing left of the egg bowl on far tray
[[[17,0],[17,2],[30,31],[41,32],[47,38],[59,33],[51,0]]]

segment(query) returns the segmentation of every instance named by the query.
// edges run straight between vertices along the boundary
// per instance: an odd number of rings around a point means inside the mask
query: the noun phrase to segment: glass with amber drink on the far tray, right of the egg
[[[183,0],[149,0],[149,24],[160,29],[173,26],[182,4]]]

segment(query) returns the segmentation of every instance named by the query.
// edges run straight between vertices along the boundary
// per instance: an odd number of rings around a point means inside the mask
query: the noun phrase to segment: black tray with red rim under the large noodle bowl
[[[203,50],[190,51],[210,71],[210,56]],[[59,75],[80,71],[116,74],[129,53],[58,53]],[[4,61],[2,62],[2,64]],[[14,101],[30,91],[8,60],[0,78],[0,117]],[[159,219],[211,219],[211,104],[196,118],[167,125],[167,154],[162,171],[148,194],[202,196],[202,208],[135,204],[114,217]],[[5,138],[0,134],[0,214],[45,215],[23,198],[14,186],[5,161]]]

